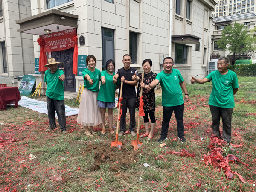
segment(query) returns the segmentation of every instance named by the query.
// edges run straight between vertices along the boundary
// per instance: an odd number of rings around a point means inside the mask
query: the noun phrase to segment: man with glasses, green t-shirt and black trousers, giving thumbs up
[[[161,137],[158,142],[163,142],[167,139],[167,133],[169,128],[170,119],[172,117],[172,112],[174,111],[175,118],[177,121],[177,132],[181,143],[185,143],[186,139],[184,137],[184,100],[189,101],[189,94],[186,89],[186,84],[180,71],[173,69],[173,59],[171,57],[166,57],[163,60],[163,71],[157,74],[154,81],[147,86],[147,90],[150,91],[157,86],[158,83],[162,87],[162,106],[163,106],[163,121],[162,121],[162,131]],[[182,90],[185,93],[184,100],[182,96]]]

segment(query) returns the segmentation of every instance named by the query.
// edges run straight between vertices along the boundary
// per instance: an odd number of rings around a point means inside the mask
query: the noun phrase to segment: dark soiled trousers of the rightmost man
[[[220,119],[222,119],[222,138],[227,143],[231,140],[231,121],[233,108],[219,108],[210,105],[212,113],[212,131],[218,138],[221,138]]]

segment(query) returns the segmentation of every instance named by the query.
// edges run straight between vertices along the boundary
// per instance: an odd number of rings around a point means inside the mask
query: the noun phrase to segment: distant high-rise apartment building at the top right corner
[[[213,11],[215,17],[255,11],[254,0],[219,0]]]

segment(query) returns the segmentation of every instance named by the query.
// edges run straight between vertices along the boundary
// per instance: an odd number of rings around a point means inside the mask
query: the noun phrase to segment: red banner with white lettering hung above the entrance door
[[[75,28],[42,35],[45,41],[44,51],[63,51],[75,47],[76,42],[74,42],[72,38],[76,35]]]

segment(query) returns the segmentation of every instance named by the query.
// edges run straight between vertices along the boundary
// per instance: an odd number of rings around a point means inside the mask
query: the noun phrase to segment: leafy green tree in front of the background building
[[[244,55],[250,57],[250,52],[254,51],[254,37],[244,29],[243,24],[234,23],[234,26],[227,25],[222,30],[222,37],[217,41],[220,48],[230,51],[230,58],[244,58]]]

